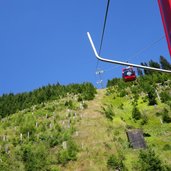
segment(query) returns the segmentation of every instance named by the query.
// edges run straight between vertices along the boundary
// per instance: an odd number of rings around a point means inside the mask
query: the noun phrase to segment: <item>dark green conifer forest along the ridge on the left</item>
[[[91,83],[70,84],[67,86],[57,83],[43,86],[28,93],[4,94],[0,97],[0,115],[3,118],[33,105],[44,104],[50,100],[66,97],[68,93],[78,94],[82,100],[92,100],[95,97],[96,89]]]

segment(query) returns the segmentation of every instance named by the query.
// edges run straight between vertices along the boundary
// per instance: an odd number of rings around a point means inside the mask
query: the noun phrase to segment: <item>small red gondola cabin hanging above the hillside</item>
[[[132,67],[122,69],[122,78],[124,81],[134,81],[136,79],[135,71]]]

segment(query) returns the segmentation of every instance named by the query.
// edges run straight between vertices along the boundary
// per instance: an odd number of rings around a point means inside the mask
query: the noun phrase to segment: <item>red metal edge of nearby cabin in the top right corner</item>
[[[171,56],[171,0],[158,0],[158,4]]]

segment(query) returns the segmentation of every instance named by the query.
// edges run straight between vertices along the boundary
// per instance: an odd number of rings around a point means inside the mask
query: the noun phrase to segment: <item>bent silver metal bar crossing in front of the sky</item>
[[[98,53],[97,53],[97,50],[95,48],[95,45],[93,43],[93,40],[92,40],[91,35],[90,35],[89,32],[87,32],[87,36],[89,38],[90,44],[92,46],[92,49],[94,51],[94,54],[95,54],[96,58],[101,60],[101,61],[103,61],[103,62],[109,62],[109,63],[113,63],[113,64],[133,66],[133,67],[136,67],[136,68],[142,68],[142,69],[148,69],[148,70],[153,70],[153,71],[160,71],[160,72],[171,73],[171,70],[165,70],[165,69],[160,69],[160,68],[153,68],[153,67],[149,67],[149,66],[143,66],[143,65],[137,65],[137,64],[127,63],[127,62],[115,61],[115,60],[105,59],[103,57],[100,57],[98,55]]]

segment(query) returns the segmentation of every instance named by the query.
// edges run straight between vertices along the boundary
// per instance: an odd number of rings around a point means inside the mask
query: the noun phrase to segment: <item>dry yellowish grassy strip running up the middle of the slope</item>
[[[75,141],[81,147],[78,159],[71,162],[66,170],[100,171],[106,168],[106,142],[110,141],[107,135],[107,120],[102,115],[101,101],[105,90],[98,90],[93,101],[88,102],[88,108],[82,111],[82,119],[77,124]]]

